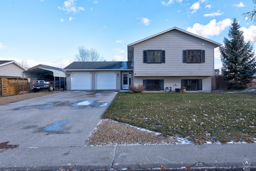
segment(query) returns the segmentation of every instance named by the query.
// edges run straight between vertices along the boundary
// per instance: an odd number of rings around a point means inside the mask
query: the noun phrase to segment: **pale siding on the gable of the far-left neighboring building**
[[[11,63],[0,67],[1,77],[18,77],[21,78],[21,73],[25,71],[19,66]]]

